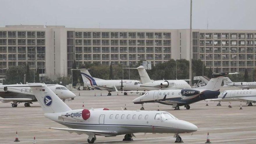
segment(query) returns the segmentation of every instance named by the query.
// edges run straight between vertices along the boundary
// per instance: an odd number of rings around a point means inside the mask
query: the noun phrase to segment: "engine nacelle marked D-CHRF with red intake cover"
[[[63,113],[61,115],[63,119],[67,120],[87,120],[90,118],[90,111],[88,109],[78,109],[78,110],[72,110],[72,111],[67,111],[66,113]]]

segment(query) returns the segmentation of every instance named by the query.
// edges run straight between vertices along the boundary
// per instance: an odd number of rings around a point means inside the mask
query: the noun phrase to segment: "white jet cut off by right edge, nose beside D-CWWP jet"
[[[239,101],[246,102],[248,106],[256,103],[256,90],[226,90],[217,99],[206,99],[208,101],[219,102],[217,106],[221,106],[220,102]]]

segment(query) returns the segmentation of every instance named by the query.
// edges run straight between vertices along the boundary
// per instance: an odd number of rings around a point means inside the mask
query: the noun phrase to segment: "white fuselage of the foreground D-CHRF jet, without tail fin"
[[[83,111],[77,110],[77,111]],[[116,131],[116,136],[128,133],[189,133],[197,130],[190,122],[179,120],[173,115],[171,119],[162,118],[165,111],[111,111],[90,110],[90,118],[87,120],[76,120],[81,117],[80,113],[66,115],[64,113],[45,113],[45,117],[73,129],[92,129],[102,131]],[[168,113],[169,114],[169,113]],[[62,119],[59,116],[62,115]],[[64,115],[64,116],[63,116]],[[74,120],[72,119],[72,117]],[[159,116],[159,119],[158,119]],[[71,118],[69,118],[71,117]]]

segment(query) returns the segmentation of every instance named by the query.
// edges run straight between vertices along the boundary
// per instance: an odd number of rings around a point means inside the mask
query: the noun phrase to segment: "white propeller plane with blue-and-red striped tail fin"
[[[108,95],[115,91],[114,86],[121,91],[143,90],[140,87],[141,82],[137,80],[104,80],[92,77],[87,69],[81,69],[80,71],[85,85],[99,90],[107,90]],[[124,95],[127,95],[127,92],[124,92]]]

